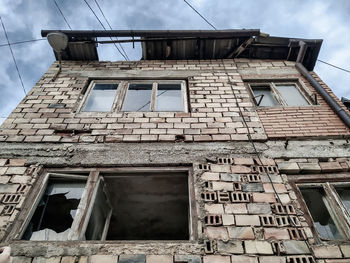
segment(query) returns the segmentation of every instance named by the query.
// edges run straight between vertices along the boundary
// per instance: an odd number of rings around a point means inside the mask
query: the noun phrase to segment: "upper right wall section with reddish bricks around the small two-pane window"
[[[291,65],[293,62],[285,62]],[[283,79],[299,79],[308,89],[310,94],[317,94],[318,105],[305,107],[256,107],[260,121],[268,138],[278,139],[285,137],[317,137],[317,136],[341,136],[349,135],[349,128],[342,122],[337,114],[329,107],[327,102],[319,93],[302,77],[298,72],[287,72],[283,62],[255,61],[237,62],[237,68],[242,73],[243,79],[271,79],[271,81]],[[281,72],[269,71],[270,69],[280,68]],[[249,69],[257,69],[249,71]],[[259,72],[260,70],[260,72]],[[260,73],[260,74],[258,74]],[[292,73],[292,74],[291,74]],[[322,80],[312,72],[313,77],[327,90],[327,92],[343,105],[334,95],[331,89]],[[343,106],[344,109],[346,109]]]

